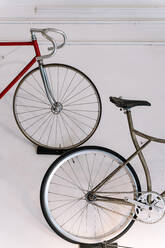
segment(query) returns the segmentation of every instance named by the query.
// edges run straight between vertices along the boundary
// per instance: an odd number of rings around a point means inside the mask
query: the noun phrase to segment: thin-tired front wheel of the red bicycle
[[[46,96],[40,70],[30,71],[16,88],[13,112],[22,133],[34,144],[56,150],[83,144],[101,118],[101,100],[92,81],[81,71],[63,64],[44,65],[60,110]]]

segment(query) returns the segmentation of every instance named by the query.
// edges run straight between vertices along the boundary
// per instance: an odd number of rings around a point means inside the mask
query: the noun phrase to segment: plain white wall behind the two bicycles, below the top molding
[[[11,1],[5,1],[10,4]],[[29,1],[31,3],[32,1]],[[41,1],[40,1],[41,2]],[[138,1],[133,1],[136,5]],[[149,1],[140,1],[142,5]],[[150,1],[164,4],[164,1]],[[17,4],[20,1],[16,1]],[[36,1],[37,3],[37,1]],[[44,3],[44,1],[42,1]],[[49,3],[52,4],[52,1]],[[57,2],[59,4],[59,2]],[[75,1],[69,1],[75,4]],[[89,1],[85,1],[89,4]],[[97,1],[99,3],[99,1]],[[104,1],[112,4],[114,1]],[[122,1],[117,1],[121,4]],[[130,1],[126,1],[130,4]],[[48,4],[48,2],[47,2]],[[91,1],[92,4],[92,1]],[[2,9],[1,9],[2,12]],[[30,27],[41,24],[0,24],[1,40],[29,39]],[[72,41],[165,41],[165,24],[49,24],[64,30]],[[42,46],[46,51],[46,46]],[[30,48],[0,48],[0,89],[33,55]],[[126,116],[109,102],[109,96],[142,99],[151,107],[132,110],[136,129],[165,138],[165,46],[144,45],[66,45],[52,62],[66,63],[87,74],[100,92],[103,114],[94,136],[86,143],[98,144],[128,157],[134,151]],[[36,147],[16,127],[12,114],[13,88],[0,101],[0,243],[5,248],[54,248],[78,245],[58,237],[44,220],[39,203],[42,178],[57,158],[37,155]],[[165,189],[165,146],[152,143],[145,151],[153,179],[153,190]],[[138,159],[133,163],[145,189]],[[135,248],[162,248],[165,219],[154,225],[135,223],[120,245]]]

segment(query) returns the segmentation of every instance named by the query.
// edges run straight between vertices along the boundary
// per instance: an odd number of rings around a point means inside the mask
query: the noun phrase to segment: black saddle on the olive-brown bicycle
[[[117,107],[123,109],[130,109],[136,106],[151,106],[151,103],[141,100],[128,100],[119,97],[110,96],[110,101],[114,103]]]

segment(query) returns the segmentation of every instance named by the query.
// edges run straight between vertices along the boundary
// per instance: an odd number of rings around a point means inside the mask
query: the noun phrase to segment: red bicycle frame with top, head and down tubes
[[[18,80],[32,67],[32,65],[37,61],[36,57],[41,56],[39,45],[37,40],[32,40],[29,42],[0,42],[0,46],[33,46],[36,56],[23,68],[23,70],[11,81],[11,83],[0,92],[0,99],[18,82]]]

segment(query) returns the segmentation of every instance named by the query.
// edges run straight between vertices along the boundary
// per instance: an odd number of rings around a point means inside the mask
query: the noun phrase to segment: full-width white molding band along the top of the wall
[[[165,22],[165,7],[60,7],[36,5],[13,6],[13,8],[11,6],[1,6],[1,22]]]

